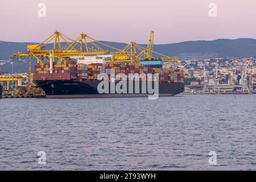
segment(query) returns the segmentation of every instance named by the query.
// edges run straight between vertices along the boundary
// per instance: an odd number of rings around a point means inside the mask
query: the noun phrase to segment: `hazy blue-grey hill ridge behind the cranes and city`
[[[109,46],[123,48],[126,43],[101,41]],[[0,41],[0,60],[8,60],[11,53],[20,51],[27,52],[27,45],[35,43],[15,43]],[[51,45],[49,45],[51,46]],[[141,46],[146,47],[145,44]],[[102,47],[102,46],[101,46]],[[105,49],[105,47],[102,47]],[[110,50],[111,51],[111,50]],[[155,44],[154,51],[167,56],[177,56],[181,59],[206,59],[212,57],[245,57],[256,55],[255,39],[217,39],[199,40],[171,44]],[[10,72],[9,63],[2,66],[3,71]],[[14,72],[26,72],[27,65],[22,63],[14,64]]]

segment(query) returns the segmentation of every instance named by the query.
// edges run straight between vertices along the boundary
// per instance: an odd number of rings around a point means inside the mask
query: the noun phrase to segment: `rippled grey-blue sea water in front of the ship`
[[[0,169],[255,170],[255,102],[256,95],[2,99]],[[38,164],[41,150],[46,165]]]

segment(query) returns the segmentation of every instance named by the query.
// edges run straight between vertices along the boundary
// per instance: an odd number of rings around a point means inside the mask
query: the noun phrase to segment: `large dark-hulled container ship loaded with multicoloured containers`
[[[35,65],[33,82],[41,88],[46,98],[90,98],[90,97],[147,97],[152,92],[146,90],[143,92],[143,81],[136,81],[136,78],[130,78],[130,73],[138,75],[144,73],[154,77],[159,75],[158,96],[174,96],[184,91],[184,75],[181,70],[163,68],[159,61],[141,61],[141,62],[115,62],[110,61],[84,62],[81,59],[77,61],[57,61],[53,63],[38,63]],[[110,90],[111,84],[116,86],[120,80],[115,80],[112,75],[123,73],[127,76],[127,83],[133,79],[131,85],[127,84],[123,91]],[[105,73],[109,78],[109,92],[100,93],[98,84],[102,80],[98,75]],[[147,77],[148,79],[148,77]],[[135,84],[139,89],[135,90]],[[146,83],[146,85],[148,82]],[[132,87],[132,88],[131,88]],[[154,89],[154,78],[152,80],[152,89]]]

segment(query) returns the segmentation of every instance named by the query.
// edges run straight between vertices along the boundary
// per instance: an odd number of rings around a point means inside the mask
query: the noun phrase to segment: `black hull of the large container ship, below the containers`
[[[38,87],[44,90],[46,98],[147,97],[154,94],[148,92],[147,89],[146,92],[143,92],[141,82],[139,83],[139,92],[135,92],[135,83],[133,83],[133,90],[129,90],[129,84],[127,84],[127,92],[125,93],[117,93],[115,90],[114,93],[111,93],[109,82],[109,92],[102,94],[98,92],[98,84],[100,81],[40,80],[34,82]],[[118,82],[115,82],[115,85],[117,83]],[[154,89],[154,84],[152,84],[152,89]],[[183,83],[159,83],[158,96],[174,96],[182,92],[184,92]]]

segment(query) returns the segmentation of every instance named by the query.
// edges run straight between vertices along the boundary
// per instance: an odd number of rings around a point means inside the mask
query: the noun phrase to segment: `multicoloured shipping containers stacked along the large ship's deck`
[[[159,82],[184,82],[184,75],[181,70],[168,68],[151,68],[148,65],[139,63],[110,62],[109,64],[93,63],[81,64],[75,61],[62,61],[53,63],[53,72],[50,73],[49,63],[38,63],[35,66],[34,80],[97,80],[100,73],[106,73],[110,77],[110,69],[118,73],[155,73],[159,74]]]

